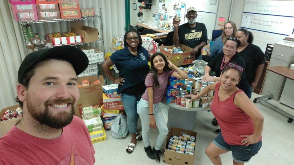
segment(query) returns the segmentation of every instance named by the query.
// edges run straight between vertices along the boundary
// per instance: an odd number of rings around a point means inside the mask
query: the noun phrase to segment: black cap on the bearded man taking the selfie
[[[24,75],[34,68],[37,63],[49,58],[61,58],[69,61],[74,67],[76,75],[81,74],[89,64],[87,55],[74,46],[64,45],[38,50],[26,55],[21,63],[18,71],[19,83],[22,83]]]

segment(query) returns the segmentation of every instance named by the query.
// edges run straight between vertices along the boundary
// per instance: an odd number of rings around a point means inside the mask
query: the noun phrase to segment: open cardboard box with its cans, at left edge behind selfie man
[[[22,109],[19,107],[19,105],[6,107],[0,111],[0,116],[0,137],[2,137],[21,119]]]

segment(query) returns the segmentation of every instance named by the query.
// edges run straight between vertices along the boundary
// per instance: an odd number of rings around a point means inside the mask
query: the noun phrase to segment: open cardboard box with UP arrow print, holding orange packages
[[[93,84],[87,87],[79,87],[78,90],[80,92],[80,99],[78,100],[78,104],[75,108],[75,115],[82,119],[82,108],[89,107],[92,105],[99,105],[100,107],[103,105],[102,99],[102,86],[103,86],[103,76],[93,75],[93,76],[85,76],[78,78],[78,84],[81,84],[83,80],[88,80],[91,83],[99,80],[100,83]]]

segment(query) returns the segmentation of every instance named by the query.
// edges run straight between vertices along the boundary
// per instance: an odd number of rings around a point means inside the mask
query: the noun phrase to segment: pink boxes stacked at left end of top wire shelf
[[[37,21],[36,0],[9,0],[14,20],[19,21],[17,12],[19,12],[20,21]]]

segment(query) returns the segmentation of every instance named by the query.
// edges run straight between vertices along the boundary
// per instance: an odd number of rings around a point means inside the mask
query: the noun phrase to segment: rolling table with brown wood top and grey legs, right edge
[[[289,78],[291,80],[294,80],[294,70],[284,67],[284,66],[275,66],[275,67],[269,67],[266,68],[267,70],[273,72],[273,73],[277,73],[281,76],[284,76],[286,78]],[[294,96],[294,93],[293,93]],[[288,123],[291,123],[293,121],[294,116],[281,110],[280,108],[270,104],[268,101],[268,99],[271,99],[273,97],[273,94],[270,95],[265,95],[262,97],[256,97],[254,98],[253,102],[256,103],[257,100],[261,101],[262,103],[264,103],[264,105],[266,105],[267,107],[271,108],[272,110],[275,110],[276,112],[280,113],[281,115],[285,116],[285,117],[289,117],[288,119]]]

